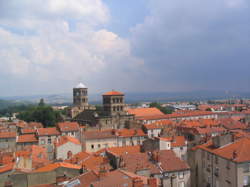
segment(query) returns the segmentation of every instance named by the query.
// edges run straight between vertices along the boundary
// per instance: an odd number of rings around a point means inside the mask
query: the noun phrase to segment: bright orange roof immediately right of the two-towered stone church
[[[135,117],[146,117],[146,116],[158,116],[164,115],[158,108],[130,108],[127,110],[129,114],[135,115]]]

